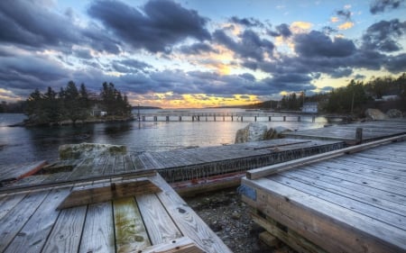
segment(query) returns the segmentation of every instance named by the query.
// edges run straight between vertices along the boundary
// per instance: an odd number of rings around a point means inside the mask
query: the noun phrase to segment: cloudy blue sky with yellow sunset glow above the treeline
[[[404,0],[2,0],[0,101],[70,80],[201,108],[406,71]]]

